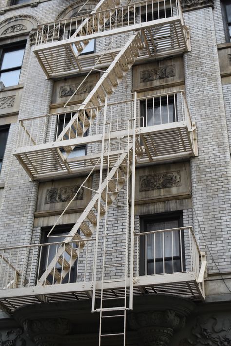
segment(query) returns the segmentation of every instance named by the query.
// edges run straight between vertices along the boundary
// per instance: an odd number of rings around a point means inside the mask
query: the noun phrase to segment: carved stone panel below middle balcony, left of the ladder
[[[65,180],[41,182],[39,185],[39,195],[36,209],[36,216],[46,216],[58,214],[67,206],[75,196],[68,210],[80,211],[88,204],[91,198],[91,191],[80,188],[85,177],[78,177]],[[91,188],[92,180],[88,179],[85,184]],[[77,191],[79,192],[77,193]],[[68,213],[67,210],[67,213]]]

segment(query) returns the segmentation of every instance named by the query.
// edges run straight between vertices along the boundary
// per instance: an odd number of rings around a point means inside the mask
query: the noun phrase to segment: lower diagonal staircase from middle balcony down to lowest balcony
[[[139,161],[139,158],[143,154],[142,146],[140,142],[135,142],[135,162]],[[116,163],[111,168],[109,174],[102,182],[100,189],[98,189],[91,201],[66,236],[64,242],[59,246],[55,257],[47,266],[45,273],[39,278],[38,285],[60,284],[65,276],[70,272],[72,265],[78,258],[79,252],[85,246],[84,239],[89,239],[97,225],[96,212],[99,215],[99,221],[105,215],[104,205],[99,202],[101,199],[106,202],[107,206],[113,204],[113,201],[118,196],[119,191],[124,186],[127,177],[131,174],[131,164],[133,159],[133,143],[129,143],[128,150],[124,150],[119,155]],[[127,169],[128,167],[128,169]],[[117,181],[117,182],[116,182]],[[98,211],[99,206],[99,211]],[[89,221],[89,222],[86,222]],[[90,224],[90,225],[89,225]],[[81,237],[78,233],[80,230],[84,237]],[[70,245],[70,242],[74,242],[76,247]],[[69,260],[66,258],[69,256]],[[58,271],[57,266],[62,266],[62,271]],[[52,282],[49,281],[52,278]]]

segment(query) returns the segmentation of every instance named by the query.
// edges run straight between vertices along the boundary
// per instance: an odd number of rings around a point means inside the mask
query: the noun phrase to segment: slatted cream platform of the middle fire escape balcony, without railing
[[[128,131],[114,131],[110,139],[127,136]],[[132,135],[132,131],[130,133]],[[176,158],[189,158],[197,155],[195,146],[195,126],[189,128],[185,121],[167,123],[162,125],[140,127],[136,129],[137,137],[141,138],[145,153],[140,163],[166,161]],[[108,135],[105,136],[107,140]],[[101,152],[74,158],[65,158],[60,148],[75,145],[90,145],[102,141],[101,135],[76,138],[52,143],[38,144],[35,146],[20,147],[15,150],[14,156],[23,166],[31,179],[47,179],[76,175],[90,172],[94,166],[100,169],[99,158]],[[120,154],[119,150],[110,152],[110,163],[114,164]],[[108,153],[105,153],[104,163],[107,166]]]

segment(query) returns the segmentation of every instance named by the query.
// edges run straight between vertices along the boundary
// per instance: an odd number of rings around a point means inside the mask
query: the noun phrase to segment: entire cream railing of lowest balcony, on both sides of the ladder
[[[134,242],[134,277],[184,272],[194,272],[199,277],[202,253],[192,227],[135,233]],[[62,244],[64,243],[59,241],[0,249],[0,289],[37,286],[39,278],[47,271],[48,264]],[[65,279],[60,279],[60,284],[93,281],[95,244],[95,238],[65,242],[65,246],[69,247],[69,254],[78,249],[79,255],[76,264],[69,265],[68,268],[70,257],[63,248],[62,259],[53,268],[58,270],[60,277],[65,271]],[[114,255],[115,261],[116,249]],[[44,285],[55,284],[56,271],[51,272]],[[112,278],[116,281],[116,277]]]

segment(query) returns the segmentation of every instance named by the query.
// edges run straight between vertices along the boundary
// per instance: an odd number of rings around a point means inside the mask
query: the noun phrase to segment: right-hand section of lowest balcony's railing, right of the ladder
[[[194,272],[198,278],[201,252],[192,227],[135,234],[134,276]]]

